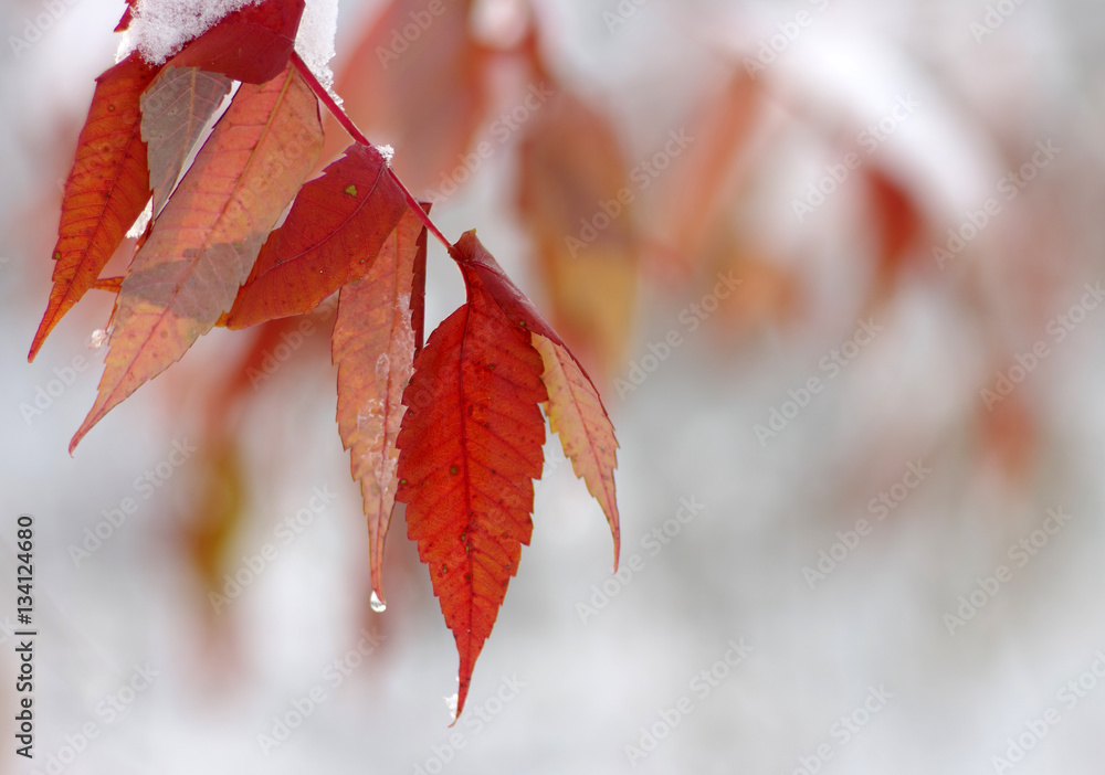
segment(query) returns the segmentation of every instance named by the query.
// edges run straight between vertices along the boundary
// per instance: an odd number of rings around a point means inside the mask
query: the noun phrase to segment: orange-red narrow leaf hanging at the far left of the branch
[[[28,360],[34,360],[57,321],[93,286],[149,201],[138,100],[157,72],[131,54],[96,78],[92,108],[65,182],[54,247],[54,287]]]

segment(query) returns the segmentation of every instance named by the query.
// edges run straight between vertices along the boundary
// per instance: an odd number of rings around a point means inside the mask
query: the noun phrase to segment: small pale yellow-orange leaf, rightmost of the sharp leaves
[[[618,499],[614,493],[614,468],[618,467],[618,439],[594,385],[560,344],[539,333],[533,335],[534,348],[541,353],[545,373],[541,382],[549,400],[545,413],[549,427],[560,437],[565,456],[576,476],[587,484],[587,491],[599,501],[614,539],[614,573],[621,554],[621,528],[618,524]]]

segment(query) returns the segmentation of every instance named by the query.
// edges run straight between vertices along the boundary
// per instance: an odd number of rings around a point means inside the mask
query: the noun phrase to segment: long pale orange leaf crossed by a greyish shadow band
[[[123,282],[99,394],[71,452],[230,309],[322,139],[318,103],[295,70],[239,89]]]

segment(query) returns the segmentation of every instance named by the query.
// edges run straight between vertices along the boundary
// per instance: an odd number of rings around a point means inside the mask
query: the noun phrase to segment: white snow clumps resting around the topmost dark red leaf
[[[137,51],[154,65],[185,47],[228,13],[262,0],[138,0],[130,29],[123,33],[116,61]],[[329,62],[338,31],[338,0],[307,0],[295,51],[327,89],[334,84]]]

